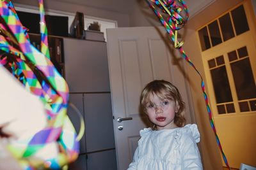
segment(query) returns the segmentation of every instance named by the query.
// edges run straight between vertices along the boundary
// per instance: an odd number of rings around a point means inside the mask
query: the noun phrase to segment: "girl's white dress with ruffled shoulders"
[[[127,170],[203,169],[196,143],[200,133],[196,124],[175,129],[140,131],[138,148]]]

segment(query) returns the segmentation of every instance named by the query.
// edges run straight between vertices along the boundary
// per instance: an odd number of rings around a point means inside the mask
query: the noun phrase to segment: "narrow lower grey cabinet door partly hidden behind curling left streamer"
[[[74,104],[76,108],[80,111],[82,114],[82,117],[84,118],[84,110],[83,110],[83,94],[70,94],[69,96],[69,102]],[[76,112],[74,108],[68,104],[68,110],[67,110],[68,117],[70,118],[72,124],[74,125],[76,132],[78,133],[80,130],[80,118],[79,113]],[[83,138],[80,140],[80,153],[86,153],[86,146],[85,146],[85,134]]]

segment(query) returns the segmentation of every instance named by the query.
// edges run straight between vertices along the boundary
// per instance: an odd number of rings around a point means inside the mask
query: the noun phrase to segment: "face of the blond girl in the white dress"
[[[146,105],[146,113],[149,120],[156,125],[156,129],[173,129],[175,112],[179,110],[179,104],[174,99],[159,99],[156,95],[150,97],[152,104]]]

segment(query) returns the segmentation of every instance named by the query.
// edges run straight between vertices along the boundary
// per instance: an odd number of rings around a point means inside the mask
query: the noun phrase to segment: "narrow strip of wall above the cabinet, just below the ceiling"
[[[13,4],[24,4],[29,6],[36,6],[38,8],[38,2],[36,0],[13,0]],[[109,20],[116,20],[118,27],[129,27],[129,15],[123,13],[116,13],[113,11],[100,10],[98,8],[92,8],[89,6],[81,6],[77,4],[63,3],[61,1],[44,1],[45,11],[47,10],[58,10],[65,11],[68,13],[76,13],[76,11],[84,13],[93,17],[106,18]]]

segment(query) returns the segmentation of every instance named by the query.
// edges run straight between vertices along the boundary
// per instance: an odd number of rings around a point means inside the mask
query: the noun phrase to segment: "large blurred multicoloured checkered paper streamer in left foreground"
[[[26,141],[8,145],[8,150],[24,169],[61,169],[77,159],[79,139],[67,116],[67,83],[49,57],[43,1],[38,0],[38,3],[42,52],[31,45],[27,29],[20,23],[12,2],[2,0],[0,3],[0,64],[40,98],[47,116],[47,127]],[[57,157],[47,160],[33,157],[51,143],[58,143]]]

